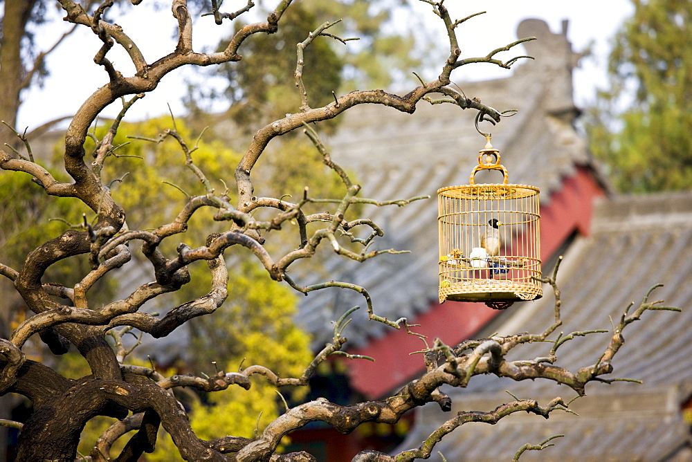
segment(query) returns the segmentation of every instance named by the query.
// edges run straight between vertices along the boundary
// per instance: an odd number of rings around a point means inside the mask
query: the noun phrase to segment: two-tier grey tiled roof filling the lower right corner
[[[570,409],[579,414],[510,416],[497,425],[464,425],[446,436],[435,450],[447,460],[510,460],[524,443],[538,444],[564,434],[555,447],[531,451],[522,460],[690,460],[689,422],[681,409],[692,396],[692,192],[623,196],[599,203],[588,237],[579,237],[567,251],[558,273],[562,293],[561,331],[609,329],[630,302],[639,303],[648,288],[652,299],[682,308],[644,317],[625,333],[625,344],[614,361],[612,378],[641,380],[641,385],[613,382],[590,384],[586,396]],[[507,311],[480,336],[498,332],[536,332],[552,323],[553,299],[543,299],[520,311]],[[490,332],[492,331],[492,332]],[[575,371],[602,354],[610,333],[575,338],[565,351],[558,350],[557,365]],[[530,344],[518,352],[522,358],[543,356],[552,344]],[[508,358],[516,360],[517,358]],[[477,379],[477,380],[476,380]],[[450,397],[453,412],[426,406],[417,416],[417,427],[404,447],[415,447],[433,429],[459,409],[489,411],[511,400],[534,398],[540,404],[556,396],[565,402],[572,392],[547,381],[512,382],[479,376],[468,389]],[[458,407],[458,409],[456,408]],[[533,418],[531,418],[533,417]],[[435,453],[437,456],[437,452]],[[440,461],[432,457],[430,460]]]

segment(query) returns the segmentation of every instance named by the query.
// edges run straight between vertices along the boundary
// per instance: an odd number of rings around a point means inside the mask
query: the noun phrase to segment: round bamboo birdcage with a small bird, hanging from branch
[[[504,309],[543,295],[540,282],[538,187],[509,183],[500,152],[487,144],[468,185],[437,191],[439,301],[486,302]],[[502,184],[475,184],[499,170]]]

